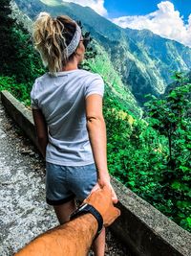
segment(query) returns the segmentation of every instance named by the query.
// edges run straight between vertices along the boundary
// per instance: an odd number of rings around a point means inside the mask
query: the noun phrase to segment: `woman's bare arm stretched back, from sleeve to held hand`
[[[107,135],[102,114],[102,97],[100,95],[92,94],[86,98],[86,118],[90,143],[98,172],[98,185],[100,187],[104,185],[110,186],[114,202],[117,202],[117,195],[111,186],[107,167]]]

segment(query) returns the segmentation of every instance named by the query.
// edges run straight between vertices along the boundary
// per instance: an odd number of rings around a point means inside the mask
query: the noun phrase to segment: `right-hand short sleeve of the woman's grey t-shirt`
[[[91,94],[99,94],[103,97],[104,81],[98,74],[94,75],[94,77],[89,80],[85,86],[85,98]]]

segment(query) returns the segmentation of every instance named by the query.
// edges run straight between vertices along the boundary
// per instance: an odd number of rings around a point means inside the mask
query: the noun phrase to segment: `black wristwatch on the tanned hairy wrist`
[[[88,203],[84,203],[82,204],[79,208],[77,208],[70,216],[70,220],[74,220],[76,217],[84,215],[84,214],[88,214],[91,213],[92,215],[94,215],[94,217],[96,218],[96,221],[98,223],[98,228],[96,231],[96,237],[100,234],[102,228],[103,228],[103,218],[102,216],[99,214],[99,212],[96,210],[96,208],[94,206],[92,206],[91,204]]]

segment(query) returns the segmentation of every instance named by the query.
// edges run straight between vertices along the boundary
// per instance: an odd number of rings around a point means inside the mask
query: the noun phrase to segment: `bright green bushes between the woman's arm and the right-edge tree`
[[[117,111],[107,111],[105,118],[110,173],[141,198],[161,199],[159,170],[163,170],[164,152],[159,147],[158,132],[143,121],[135,120],[131,126],[128,120],[117,116]]]

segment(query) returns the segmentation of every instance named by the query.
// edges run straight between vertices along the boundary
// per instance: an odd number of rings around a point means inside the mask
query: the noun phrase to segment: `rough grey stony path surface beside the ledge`
[[[57,224],[45,201],[44,160],[0,103],[0,255],[12,255]],[[130,256],[109,230],[105,255]]]

